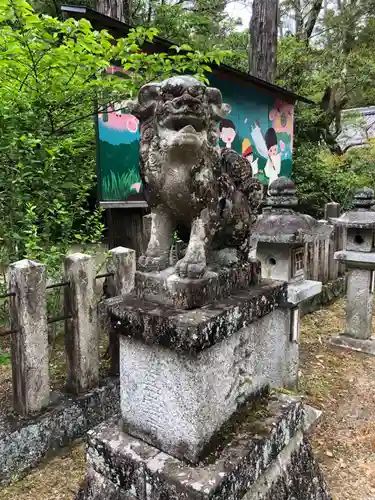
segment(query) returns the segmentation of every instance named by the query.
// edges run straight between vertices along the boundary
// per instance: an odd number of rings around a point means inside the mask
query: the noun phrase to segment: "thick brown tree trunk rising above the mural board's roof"
[[[273,83],[277,64],[278,0],[254,0],[250,21],[250,74]]]

